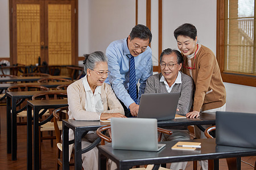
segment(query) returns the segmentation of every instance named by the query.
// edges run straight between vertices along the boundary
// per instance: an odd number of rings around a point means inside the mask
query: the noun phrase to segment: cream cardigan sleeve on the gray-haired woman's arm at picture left
[[[100,120],[100,114],[101,114],[100,112],[85,111],[85,108],[82,108],[81,94],[84,91],[77,85],[78,83],[75,82],[69,85],[67,88],[69,118],[74,118],[75,120],[88,120],[88,121]]]

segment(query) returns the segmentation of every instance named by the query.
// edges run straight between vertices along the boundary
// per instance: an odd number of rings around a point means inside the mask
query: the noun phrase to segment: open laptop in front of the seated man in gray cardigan
[[[180,93],[142,94],[137,117],[173,120],[179,97]]]

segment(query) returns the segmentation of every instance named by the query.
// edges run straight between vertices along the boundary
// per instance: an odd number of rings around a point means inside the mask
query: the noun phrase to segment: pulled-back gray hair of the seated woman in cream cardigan
[[[84,59],[84,72],[86,74],[87,69],[94,69],[98,62],[108,62],[108,57],[103,52],[97,51],[90,54],[82,55]]]

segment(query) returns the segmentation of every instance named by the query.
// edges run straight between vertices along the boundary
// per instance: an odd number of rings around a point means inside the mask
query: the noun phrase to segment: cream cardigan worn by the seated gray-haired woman
[[[68,94],[68,116],[75,120],[100,120],[100,112],[85,111],[86,93],[82,80],[77,80],[67,88]],[[101,99],[104,105],[104,113],[125,114],[123,107],[115,96],[109,84],[103,83],[101,86]]]

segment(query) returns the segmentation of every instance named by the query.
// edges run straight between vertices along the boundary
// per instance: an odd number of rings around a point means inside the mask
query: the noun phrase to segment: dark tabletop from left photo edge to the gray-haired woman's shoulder
[[[18,77],[2,77],[1,82],[31,82],[37,81],[42,78],[64,78],[71,80],[71,77],[65,75],[52,75],[52,76],[18,76]]]

